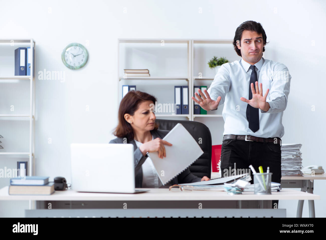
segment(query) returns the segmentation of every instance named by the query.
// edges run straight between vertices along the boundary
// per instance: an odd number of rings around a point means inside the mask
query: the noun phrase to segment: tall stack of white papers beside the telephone
[[[281,146],[281,172],[282,176],[299,175],[302,176],[302,144],[282,144]]]

